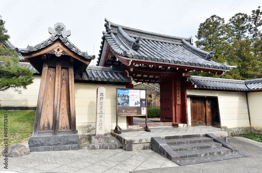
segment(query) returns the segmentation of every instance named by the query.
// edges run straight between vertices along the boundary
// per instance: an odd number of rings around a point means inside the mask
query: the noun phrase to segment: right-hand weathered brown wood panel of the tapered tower
[[[70,130],[69,73],[61,68],[61,88],[58,130]]]

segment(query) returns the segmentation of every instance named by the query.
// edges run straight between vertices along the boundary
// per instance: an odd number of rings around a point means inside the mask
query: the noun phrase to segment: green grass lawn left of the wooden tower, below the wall
[[[4,136],[4,114],[8,114],[8,133]],[[9,139],[8,145],[29,140],[33,132],[35,111],[3,111],[0,110],[0,148],[4,148],[4,139]],[[1,154],[0,154],[1,155]]]

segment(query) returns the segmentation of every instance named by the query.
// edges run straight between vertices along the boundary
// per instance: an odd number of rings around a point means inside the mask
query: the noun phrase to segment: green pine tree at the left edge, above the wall
[[[5,42],[10,38],[4,27],[5,21],[0,16],[0,91],[14,89],[21,93],[20,89],[33,83],[34,73],[29,67],[19,66],[19,55],[14,50],[5,46]]]

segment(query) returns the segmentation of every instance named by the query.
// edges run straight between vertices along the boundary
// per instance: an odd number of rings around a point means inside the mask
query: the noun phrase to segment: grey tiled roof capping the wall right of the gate
[[[188,81],[196,85],[196,88],[242,91],[262,90],[262,78],[251,80],[234,80],[201,76],[191,76],[187,78]]]

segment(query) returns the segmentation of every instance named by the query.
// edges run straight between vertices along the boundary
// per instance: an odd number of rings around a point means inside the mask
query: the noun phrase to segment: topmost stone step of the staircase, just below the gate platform
[[[213,139],[210,137],[190,137],[190,138],[179,138],[179,139],[168,139],[164,140],[167,145],[178,145],[185,143],[201,143],[201,142],[212,142]]]

